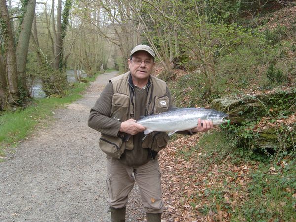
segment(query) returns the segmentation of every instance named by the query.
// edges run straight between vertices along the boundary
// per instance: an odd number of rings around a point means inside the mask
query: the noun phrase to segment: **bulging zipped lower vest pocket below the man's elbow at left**
[[[106,155],[116,159],[120,159],[125,149],[120,137],[112,137],[105,134],[99,139],[99,147]]]

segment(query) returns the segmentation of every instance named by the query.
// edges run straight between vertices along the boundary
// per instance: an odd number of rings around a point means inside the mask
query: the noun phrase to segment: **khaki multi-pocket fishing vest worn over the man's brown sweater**
[[[134,117],[135,113],[135,92],[133,88],[130,72],[110,79],[113,85],[112,108],[110,118],[124,122]],[[147,85],[146,115],[158,114],[167,111],[169,108],[169,98],[166,96],[166,83],[150,75]],[[153,132],[154,133],[154,132]],[[165,132],[148,134],[143,140],[143,148],[151,148],[158,152],[165,148],[169,137]],[[125,133],[119,132],[118,137],[102,134],[99,144],[100,148],[107,155],[119,159],[124,150],[132,150],[133,137],[124,141]]]

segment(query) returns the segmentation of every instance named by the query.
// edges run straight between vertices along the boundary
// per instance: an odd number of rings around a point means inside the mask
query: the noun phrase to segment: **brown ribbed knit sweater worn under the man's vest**
[[[147,100],[147,90],[134,87],[135,89],[135,116],[138,120],[140,116],[145,115],[145,105]],[[121,122],[109,118],[112,107],[113,85],[108,83],[91,108],[88,126],[110,136],[118,136]],[[169,109],[172,107],[171,94],[168,88],[166,95],[170,99]],[[151,159],[149,149],[142,148],[142,138],[144,133],[138,133],[133,136],[134,149],[125,150],[120,158],[120,162],[126,166],[139,166],[147,163]]]

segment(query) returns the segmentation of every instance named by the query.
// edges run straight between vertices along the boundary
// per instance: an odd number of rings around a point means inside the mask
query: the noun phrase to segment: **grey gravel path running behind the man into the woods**
[[[100,75],[84,97],[55,112],[55,121],[0,163],[0,221],[110,222],[105,190],[105,154],[99,133],[87,126],[90,108],[117,72]],[[143,219],[137,186],[127,221]],[[139,219],[139,220],[138,220]]]

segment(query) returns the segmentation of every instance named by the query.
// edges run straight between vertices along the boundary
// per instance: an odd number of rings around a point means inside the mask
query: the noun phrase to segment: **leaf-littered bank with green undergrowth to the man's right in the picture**
[[[295,12],[294,6],[255,19],[257,25],[264,23],[257,37],[245,39],[235,52],[217,58],[216,91],[211,95],[206,94],[198,68],[189,71],[189,63],[178,64],[183,69],[174,70],[174,78],[169,80],[176,105],[210,107],[211,101],[219,97],[295,89],[296,39],[291,36],[296,33]],[[256,49],[258,38],[265,39],[268,47]],[[260,54],[264,50],[266,54]],[[157,66],[155,74],[162,76],[162,72]],[[273,114],[270,109],[268,116],[253,125],[240,126],[240,134],[252,141],[259,127],[284,125],[292,132],[293,140],[296,106],[293,99],[287,102],[290,107],[283,107],[281,113]],[[177,135],[161,151],[165,220],[296,221],[295,141],[289,149],[279,146],[264,151],[239,146],[230,134],[216,127],[194,136]],[[279,137],[278,144],[289,138]]]

